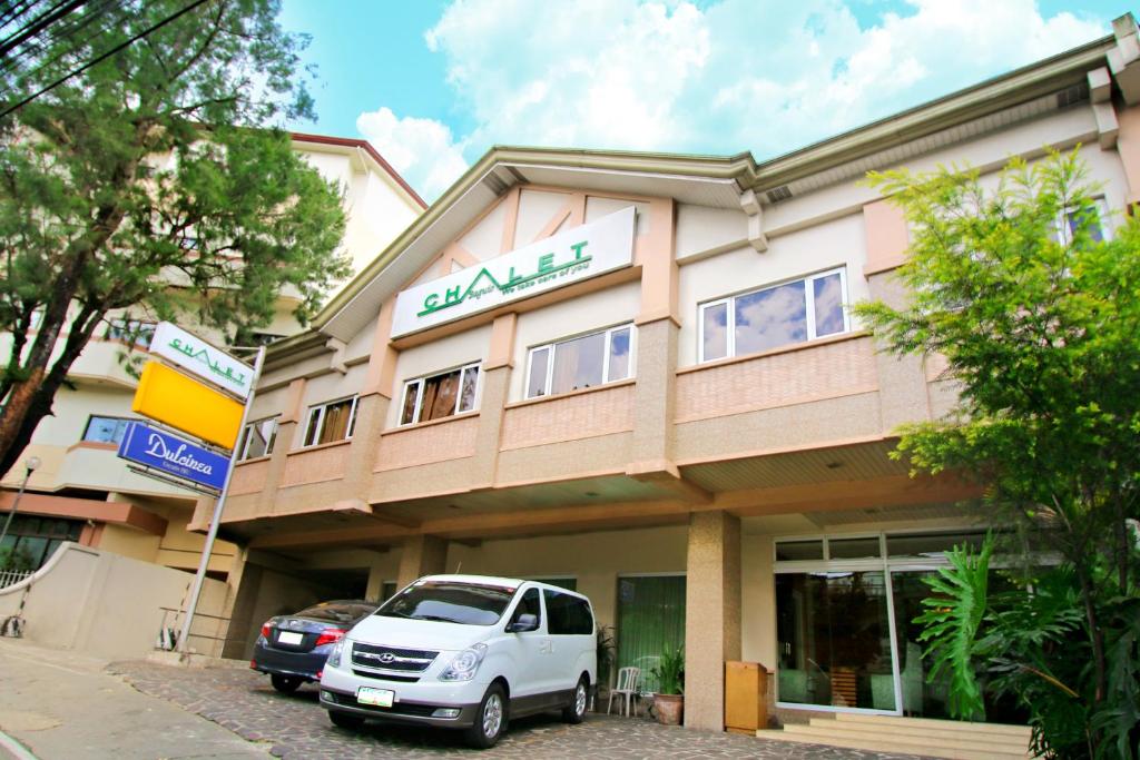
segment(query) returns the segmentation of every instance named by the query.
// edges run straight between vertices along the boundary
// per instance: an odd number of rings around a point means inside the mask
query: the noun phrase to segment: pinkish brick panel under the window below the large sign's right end
[[[633,384],[573,393],[507,409],[504,451],[610,435],[634,428]]]

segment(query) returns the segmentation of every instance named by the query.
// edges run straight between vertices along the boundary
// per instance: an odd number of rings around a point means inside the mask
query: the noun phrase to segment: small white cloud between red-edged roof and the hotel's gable
[[[400,119],[382,107],[360,114],[357,129],[429,201],[467,170],[463,145],[434,119]]]

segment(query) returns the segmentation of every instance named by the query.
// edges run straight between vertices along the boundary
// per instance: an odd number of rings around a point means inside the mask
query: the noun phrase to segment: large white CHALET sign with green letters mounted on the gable
[[[392,337],[455,321],[633,263],[634,206],[400,293]]]

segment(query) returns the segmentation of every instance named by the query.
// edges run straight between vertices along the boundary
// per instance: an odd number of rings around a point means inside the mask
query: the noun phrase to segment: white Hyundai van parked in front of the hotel
[[[537,581],[429,575],[333,648],[320,705],[341,728],[368,718],[463,728],[488,747],[510,718],[561,710],[581,722],[596,677],[585,596]]]

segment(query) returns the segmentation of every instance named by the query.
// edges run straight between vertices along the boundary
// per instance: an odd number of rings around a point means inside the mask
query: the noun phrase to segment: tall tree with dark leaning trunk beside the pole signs
[[[0,123],[0,473],[108,312],[244,343],[283,288],[303,324],[348,273],[339,190],[274,128],[311,116],[278,6],[207,0],[163,25],[188,2],[87,3],[0,62],[16,104],[122,47]]]

